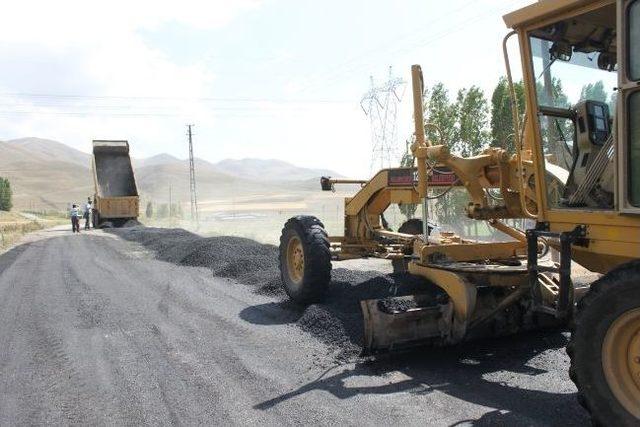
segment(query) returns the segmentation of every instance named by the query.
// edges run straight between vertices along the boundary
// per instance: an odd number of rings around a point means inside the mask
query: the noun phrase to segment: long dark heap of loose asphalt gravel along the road
[[[157,258],[178,265],[207,267],[218,277],[227,277],[255,288],[255,292],[283,300],[295,310],[282,290],[278,248],[241,237],[200,237],[183,229],[131,227],[109,230],[153,251]],[[362,349],[363,320],[360,301],[382,299],[383,310],[412,307],[411,301],[395,296],[438,291],[423,279],[409,274],[388,274],[336,268],[325,300],[302,311],[297,325],[336,350],[338,359],[348,360]]]

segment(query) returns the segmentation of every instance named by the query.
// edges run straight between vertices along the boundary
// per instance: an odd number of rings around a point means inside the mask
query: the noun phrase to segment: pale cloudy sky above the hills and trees
[[[276,158],[370,173],[360,101],[389,76],[452,96],[504,74],[502,15],[531,0],[12,2],[0,15],[0,140],[89,152],[127,139],[135,157]],[[512,59],[519,68],[517,54]],[[402,96],[397,144],[412,133]]]

